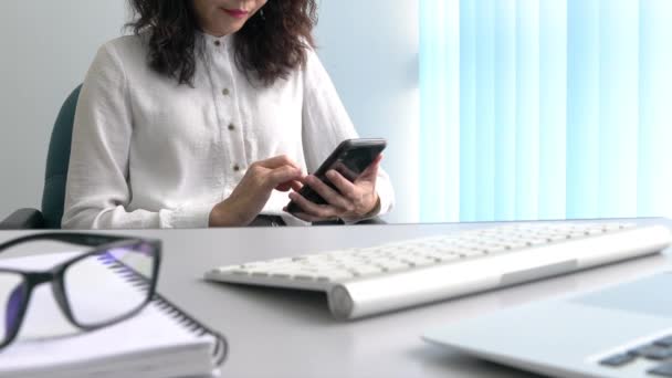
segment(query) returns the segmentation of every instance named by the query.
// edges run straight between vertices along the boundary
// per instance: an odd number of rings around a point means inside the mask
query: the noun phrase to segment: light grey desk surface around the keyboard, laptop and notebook
[[[661,219],[638,222],[664,222],[672,227],[672,221]],[[212,266],[487,225],[492,223],[114,233],[164,240],[159,291],[227,336],[231,350],[222,369],[223,377],[537,377],[428,345],[419,335],[429,328],[498,308],[650,274],[672,261],[668,250],[662,255],[351,323],[333,319],[324,294],[202,280],[203,272]],[[23,233],[3,231],[0,240]]]

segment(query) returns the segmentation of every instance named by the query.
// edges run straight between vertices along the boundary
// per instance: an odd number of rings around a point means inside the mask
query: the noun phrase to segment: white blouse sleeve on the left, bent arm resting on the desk
[[[122,61],[112,43],[92,63],[77,102],[65,188],[65,229],[207,227],[214,203],[127,211],[133,117]]]

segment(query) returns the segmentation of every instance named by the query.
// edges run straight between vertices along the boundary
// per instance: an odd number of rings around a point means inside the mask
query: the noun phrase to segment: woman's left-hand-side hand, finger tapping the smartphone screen
[[[286,156],[250,166],[229,198],[210,212],[210,227],[248,225],[264,208],[273,189],[287,191],[301,186],[301,167]]]

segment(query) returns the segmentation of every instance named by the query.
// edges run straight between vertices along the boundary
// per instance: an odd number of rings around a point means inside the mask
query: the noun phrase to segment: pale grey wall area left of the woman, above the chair
[[[119,0],[0,1],[0,218],[40,208],[56,114],[125,19]]]

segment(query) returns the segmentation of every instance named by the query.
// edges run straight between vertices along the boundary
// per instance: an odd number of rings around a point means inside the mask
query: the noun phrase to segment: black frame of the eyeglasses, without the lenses
[[[119,237],[119,235],[106,235],[106,234],[94,234],[94,233],[75,233],[75,232],[54,232],[54,233],[36,233],[30,234],[25,237],[20,237],[17,239],[9,240],[4,243],[0,243],[0,253],[3,251],[27,242],[32,241],[60,241],[70,244],[77,245],[86,245],[86,246],[95,246],[94,250],[83,252],[65,262],[62,262],[46,271],[24,271],[17,269],[4,269],[0,267],[0,273],[11,273],[21,275],[23,279],[22,282],[22,305],[18,311],[18,319],[14,322],[14,325],[11,329],[6,329],[4,339],[0,340],[0,349],[3,349],[9,344],[11,344],[17,336],[19,335],[19,330],[21,330],[21,325],[23,324],[23,319],[25,318],[25,313],[30,305],[30,298],[33,290],[44,283],[51,283],[52,292],[56,303],[63,313],[63,315],[67,318],[67,321],[74,325],[75,327],[82,330],[95,330],[98,328],[103,328],[125,319],[128,319],[136,314],[138,314],[145,306],[151,302],[156,293],[156,286],[158,283],[159,275],[159,266],[161,262],[161,241],[158,239],[145,239],[145,238],[133,238],[133,237]],[[140,303],[136,308],[129,311],[124,315],[119,315],[109,321],[94,323],[94,324],[84,324],[78,322],[72,312],[70,306],[70,302],[67,300],[67,294],[65,292],[65,282],[64,276],[67,267],[73,265],[74,263],[90,258],[92,255],[101,254],[112,249],[117,248],[133,248],[138,245],[149,245],[153,248],[153,252],[155,253],[154,266],[151,266],[151,281],[147,285],[147,297],[143,303]]]

